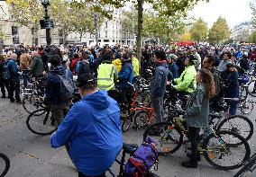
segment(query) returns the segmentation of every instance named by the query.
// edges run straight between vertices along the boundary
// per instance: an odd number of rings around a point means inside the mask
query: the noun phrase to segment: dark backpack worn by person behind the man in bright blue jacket
[[[59,94],[62,101],[68,102],[73,99],[75,86],[73,80],[69,78],[69,71],[65,69],[65,75],[57,75],[60,81]]]

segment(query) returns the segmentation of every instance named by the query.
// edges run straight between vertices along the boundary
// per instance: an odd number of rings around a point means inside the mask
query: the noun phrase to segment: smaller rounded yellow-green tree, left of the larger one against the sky
[[[192,28],[190,30],[192,39],[197,42],[206,41],[207,32],[207,23],[202,18],[197,19],[197,21],[192,24]]]

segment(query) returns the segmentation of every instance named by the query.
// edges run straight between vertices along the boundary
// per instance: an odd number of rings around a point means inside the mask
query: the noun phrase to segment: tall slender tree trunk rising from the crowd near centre
[[[138,3],[138,35],[137,35],[137,58],[142,68],[142,23],[143,23],[143,3],[144,0],[137,0]],[[142,73],[142,69],[140,71]]]

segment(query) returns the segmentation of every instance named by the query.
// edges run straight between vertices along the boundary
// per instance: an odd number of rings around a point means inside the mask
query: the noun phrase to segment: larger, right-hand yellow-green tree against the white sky
[[[223,17],[218,17],[212,28],[209,30],[208,41],[210,43],[219,44],[230,38],[231,31],[226,20]]]

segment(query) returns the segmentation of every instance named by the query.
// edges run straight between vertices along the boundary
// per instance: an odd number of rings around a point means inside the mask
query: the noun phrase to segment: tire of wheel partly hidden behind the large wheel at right
[[[233,131],[233,132],[238,133],[237,128],[231,128],[231,129],[224,129],[224,128],[222,128],[222,127],[224,127],[224,123],[225,123],[225,122],[229,121],[230,119],[235,119],[235,118],[244,119],[244,120],[248,123],[249,128],[250,128],[248,136],[245,137],[245,136],[242,136],[242,135],[239,133],[242,137],[245,138],[246,141],[248,141],[249,139],[251,139],[251,137],[252,137],[252,135],[253,135],[253,123],[251,122],[251,119],[248,119],[247,117],[240,116],[240,115],[229,116],[229,117],[223,119],[223,120],[219,123],[219,125],[218,125],[218,127],[217,127],[216,130],[217,130],[217,131],[220,131],[220,130],[230,130],[230,131]],[[239,146],[240,144],[237,144],[237,145]]]

